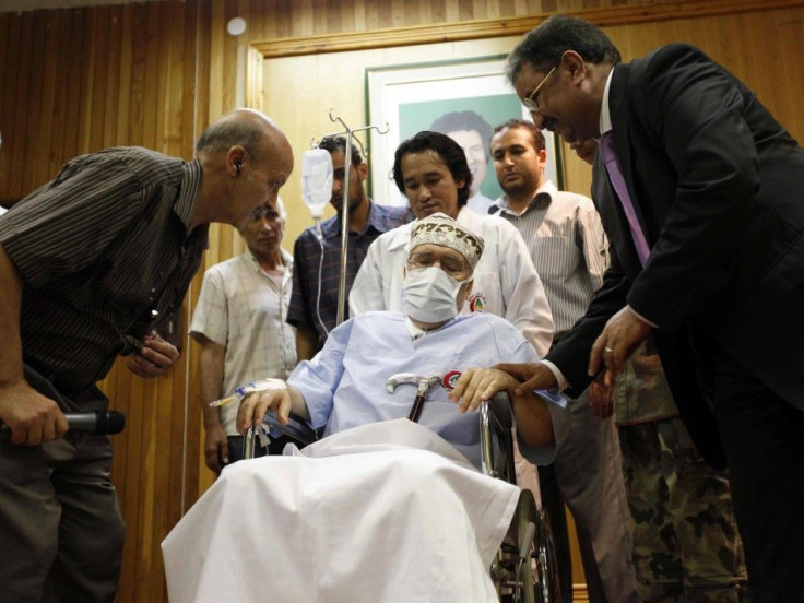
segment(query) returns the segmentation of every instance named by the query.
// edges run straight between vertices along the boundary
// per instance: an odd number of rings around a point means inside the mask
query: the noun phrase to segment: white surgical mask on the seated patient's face
[[[402,284],[405,314],[421,322],[454,318],[462,284],[435,265],[409,270]]]

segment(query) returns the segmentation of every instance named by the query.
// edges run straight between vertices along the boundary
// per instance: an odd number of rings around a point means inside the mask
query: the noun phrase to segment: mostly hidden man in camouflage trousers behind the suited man
[[[590,386],[600,416],[614,407],[646,602],[752,601],[726,471],[701,458],[670,393],[652,340],[612,389]]]

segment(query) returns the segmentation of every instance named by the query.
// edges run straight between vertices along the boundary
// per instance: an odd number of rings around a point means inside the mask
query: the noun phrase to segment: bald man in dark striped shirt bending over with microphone
[[[125,524],[106,436],[64,412],[105,410],[118,355],[164,375],[156,334],[181,306],[208,224],[274,206],[291,145],[264,115],[210,126],[191,162],[141,147],[67,163],[0,218],[0,583],[8,601],[113,601]]]

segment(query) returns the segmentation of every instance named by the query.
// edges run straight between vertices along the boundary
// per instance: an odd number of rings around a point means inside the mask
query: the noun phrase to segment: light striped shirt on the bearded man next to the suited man
[[[542,279],[553,321],[554,342],[581,318],[608,265],[608,241],[592,200],[559,191],[544,182],[521,214],[505,196],[489,210],[511,222],[522,235]]]

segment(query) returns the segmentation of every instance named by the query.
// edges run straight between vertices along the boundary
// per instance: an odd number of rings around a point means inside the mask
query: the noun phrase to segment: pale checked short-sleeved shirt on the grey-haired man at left
[[[293,283],[293,257],[281,250],[285,271],[277,286],[250,251],[204,273],[190,334],[226,348],[220,397],[250,381],[287,379],[296,367],[296,340],[285,322]],[[237,404],[221,406],[221,424],[237,435]]]

